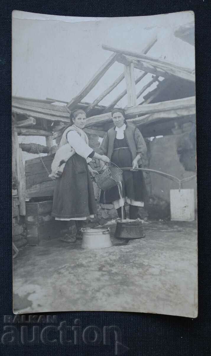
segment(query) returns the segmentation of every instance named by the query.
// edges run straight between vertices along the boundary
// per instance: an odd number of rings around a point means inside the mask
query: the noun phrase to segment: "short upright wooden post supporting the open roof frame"
[[[124,66],[124,77],[127,88],[127,107],[131,108],[131,106],[137,105],[133,63],[130,63],[128,66]]]

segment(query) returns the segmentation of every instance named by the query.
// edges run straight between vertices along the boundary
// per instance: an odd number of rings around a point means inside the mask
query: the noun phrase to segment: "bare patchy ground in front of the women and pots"
[[[111,238],[115,225],[111,225]],[[145,222],[145,237],[98,250],[27,246],[13,261],[14,313],[109,310],[197,316],[196,222]]]

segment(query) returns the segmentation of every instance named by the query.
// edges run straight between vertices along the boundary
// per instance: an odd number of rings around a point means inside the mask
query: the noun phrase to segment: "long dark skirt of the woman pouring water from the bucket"
[[[60,219],[96,214],[94,189],[85,158],[75,153],[56,179],[52,216]]]

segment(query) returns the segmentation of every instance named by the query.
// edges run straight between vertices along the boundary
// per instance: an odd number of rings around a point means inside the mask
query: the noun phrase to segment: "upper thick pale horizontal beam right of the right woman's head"
[[[195,109],[195,96],[189,98],[182,98],[176,100],[161,101],[160,103],[137,105],[134,108],[126,110],[126,117],[130,118],[134,115],[152,114],[154,112],[162,112],[178,109],[189,109],[193,107]]]

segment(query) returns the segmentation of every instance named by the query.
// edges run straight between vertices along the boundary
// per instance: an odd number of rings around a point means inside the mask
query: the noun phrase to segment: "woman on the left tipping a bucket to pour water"
[[[70,233],[69,227],[73,225],[70,220],[86,220],[88,216],[94,217],[97,212],[90,174],[95,175],[98,172],[88,162],[92,158],[109,162],[108,157],[99,155],[89,147],[88,137],[83,131],[86,119],[83,110],[73,112],[73,124],[63,132],[59,150],[52,162],[51,177],[56,177],[52,216],[56,220],[67,222],[66,231],[63,231],[61,238],[68,242],[76,241],[76,234],[71,236]]]

